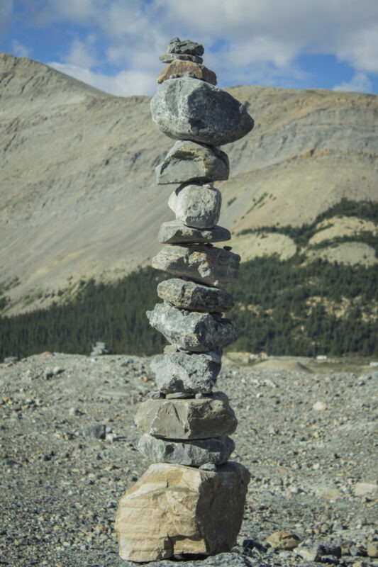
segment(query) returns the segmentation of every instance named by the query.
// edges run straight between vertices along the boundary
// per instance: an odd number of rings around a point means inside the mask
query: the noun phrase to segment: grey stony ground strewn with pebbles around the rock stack
[[[187,565],[377,565],[377,378],[357,361],[224,364],[245,520],[234,554]],[[0,385],[0,566],[126,566],[113,521],[148,467],[133,415],[155,387],[149,360],[45,353],[0,364]],[[299,547],[269,547],[279,530]]]

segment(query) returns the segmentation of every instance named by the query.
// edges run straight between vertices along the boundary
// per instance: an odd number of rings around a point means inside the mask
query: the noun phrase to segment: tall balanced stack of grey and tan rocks
[[[213,246],[230,239],[217,225],[221,192],[213,181],[229,174],[216,146],[243,137],[253,120],[214,86],[203,53],[198,43],[172,39],[151,101],[152,120],[177,140],[157,167],[158,184],[179,184],[168,201],[176,220],[160,227],[165,247],[152,259],[174,277],[157,286],[163,303],[147,313],[172,347],[152,361],[159,391],[135,416],[139,450],[154,464],[118,507],[120,555],[130,561],[230,551],[250,480],[243,465],[228,462],[237,420],[226,395],[213,392],[221,349],[237,336],[222,315],[233,306],[225,286],[238,278],[240,262],[230,247]]]

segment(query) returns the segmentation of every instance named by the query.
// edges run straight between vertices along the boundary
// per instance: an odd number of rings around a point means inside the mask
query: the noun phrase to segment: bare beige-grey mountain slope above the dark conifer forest
[[[230,92],[255,118],[248,137],[226,146],[230,179],[217,184],[220,224],[232,230],[243,259],[295,252],[287,236],[238,235],[243,230],[310,223],[343,197],[378,200],[377,96],[262,86]],[[153,125],[149,104],[148,97],[111,96],[0,54],[0,285],[11,300],[7,314],[47,305],[46,292],[74,291],[83,278],[114,279],[157,252],[157,229],[173,215],[173,187],[157,186],[154,168],[172,140]],[[348,222],[327,227],[350,234]],[[377,262],[357,233],[346,249],[332,250],[333,259],[360,262],[365,255]]]

